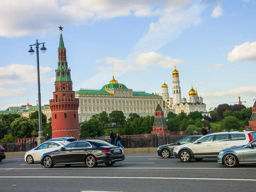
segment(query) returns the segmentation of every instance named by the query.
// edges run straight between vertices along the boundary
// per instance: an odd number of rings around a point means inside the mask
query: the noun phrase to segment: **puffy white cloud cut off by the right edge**
[[[228,61],[256,61],[256,41],[250,43],[245,42],[236,45],[235,48],[228,53]]]

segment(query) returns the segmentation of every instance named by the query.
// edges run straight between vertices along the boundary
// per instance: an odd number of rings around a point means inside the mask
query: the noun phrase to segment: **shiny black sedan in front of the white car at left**
[[[85,163],[91,168],[99,163],[112,166],[116,161],[122,160],[125,160],[125,154],[121,147],[102,140],[79,140],[43,154],[41,165],[52,168],[54,165],[70,166]]]

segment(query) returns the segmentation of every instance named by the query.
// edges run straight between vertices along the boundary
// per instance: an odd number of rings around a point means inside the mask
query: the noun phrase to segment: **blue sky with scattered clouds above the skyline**
[[[101,89],[114,76],[133,90],[160,93],[180,72],[182,97],[193,85],[207,104],[256,98],[256,0],[9,0],[0,6],[0,110],[36,105],[54,91],[63,28],[73,90]],[[35,48],[34,48],[35,49]]]

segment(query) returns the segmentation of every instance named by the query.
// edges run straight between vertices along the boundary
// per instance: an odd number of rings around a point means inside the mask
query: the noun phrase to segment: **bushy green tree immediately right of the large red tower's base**
[[[100,137],[105,134],[102,123],[99,120],[90,119],[81,122],[80,137]]]

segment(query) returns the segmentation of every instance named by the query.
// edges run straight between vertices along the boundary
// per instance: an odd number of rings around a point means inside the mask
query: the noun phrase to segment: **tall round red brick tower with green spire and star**
[[[63,27],[59,27],[62,31]],[[66,48],[62,34],[58,47],[58,68],[55,70],[55,91],[50,99],[52,111],[52,138],[73,135],[79,139],[79,99],[75,98],[70,68],[67,66]]]

